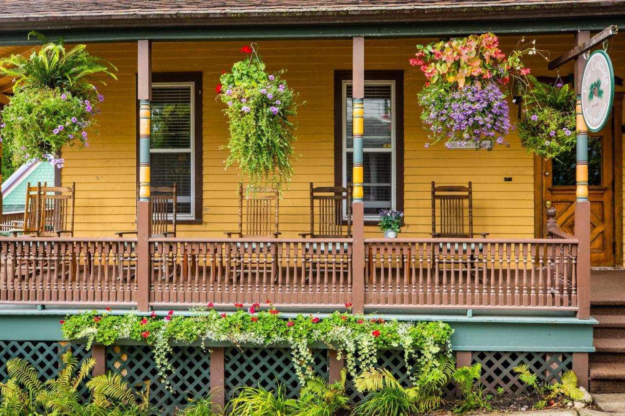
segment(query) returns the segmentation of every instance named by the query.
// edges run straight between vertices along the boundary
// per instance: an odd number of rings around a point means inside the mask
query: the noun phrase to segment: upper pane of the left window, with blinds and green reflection
[[[191,86],[152,88],[152,149],[191,148]]]

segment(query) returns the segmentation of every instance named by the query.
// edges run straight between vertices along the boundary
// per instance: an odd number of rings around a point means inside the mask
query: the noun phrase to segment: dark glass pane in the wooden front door
[[[552,161],[552,186],[574,186],[576,184],[576,149],[561,154],[559,161]],[[588,184],[601,186],[601,137],[588,137]]]

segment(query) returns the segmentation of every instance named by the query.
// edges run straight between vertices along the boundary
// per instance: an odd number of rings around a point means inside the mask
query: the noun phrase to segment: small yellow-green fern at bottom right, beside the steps
[[[540,382],[538,376],[529,370],[529,365],[519,364],[512,369],[519,375],[519,380],[531,387],[540,397],[534,405],[534,409],[544,409],[557,396],[564,396],[571,400],[579,400],[584,397],[584,393],[577,387],[577,375],[572,370],[567,370],[562,374],[561,382],[548,385]]]

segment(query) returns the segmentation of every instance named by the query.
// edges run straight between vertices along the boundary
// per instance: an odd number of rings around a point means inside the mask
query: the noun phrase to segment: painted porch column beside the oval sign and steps
[[[578,31],[575,44],[581,45],[590,39],[589,31]],[[575,59],[574,84],[576,94],[576,202],[575,237],[579,240],[577,249],[577,318],[590,317],[590,202],[588,202],[588,129],[581,112],[582,72],[586,59],[581,54]]]

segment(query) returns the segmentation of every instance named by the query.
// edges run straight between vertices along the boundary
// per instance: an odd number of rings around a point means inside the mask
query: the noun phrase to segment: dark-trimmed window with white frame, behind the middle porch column
[[[377,220],[381,209],[403,209],[403,99],[399,99],[403,74],[401,71],[377,71],[376,74],[366,73],[365,79],[364,215],[367,220]],[[352,182],[353,161],[351,72],[349,79],[341,78],[336,87],[341,97],[338,119],[341,132],[340,140],[335,142],[340,149],[340,158],[335,160],[340,167],[340,171],[335,167],[335,172],[340,177],[335,178],[335,182],[346,186],[347,182]],[[335,151],[335,159],[336,156]]]

